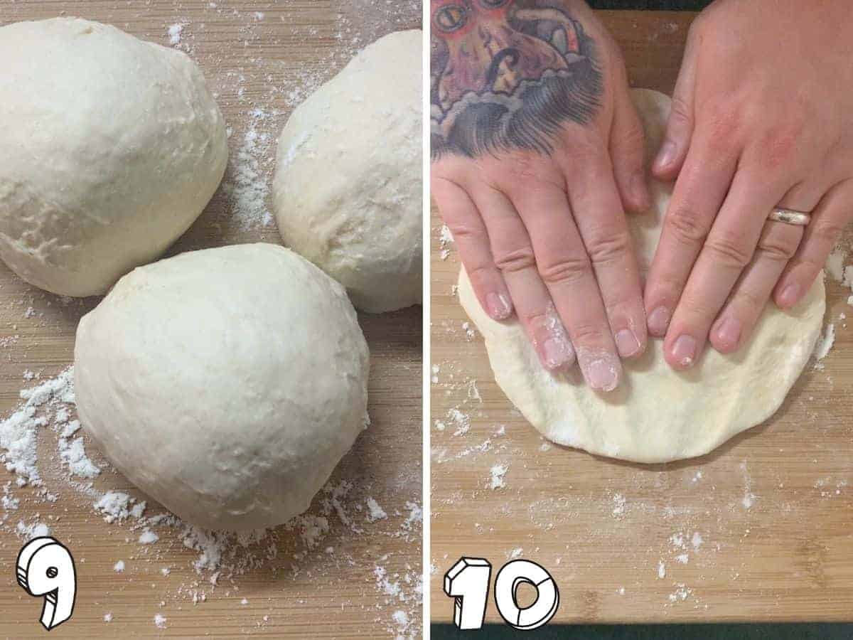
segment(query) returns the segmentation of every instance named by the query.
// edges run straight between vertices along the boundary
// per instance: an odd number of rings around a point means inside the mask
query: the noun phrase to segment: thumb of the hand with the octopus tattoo
[[[610,134],[613,177],[625,211],[644,212],[651,203],[644,167],[645,134],[634,102],[631,101],[627,82],[622,83],[616,91],[613,107]]]

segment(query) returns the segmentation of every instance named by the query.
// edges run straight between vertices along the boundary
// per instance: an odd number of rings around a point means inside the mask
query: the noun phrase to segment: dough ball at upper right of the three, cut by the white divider
[[[281,237],[362,311],[421,303],[421,43],[405,31],[368,46],[278,141]]]

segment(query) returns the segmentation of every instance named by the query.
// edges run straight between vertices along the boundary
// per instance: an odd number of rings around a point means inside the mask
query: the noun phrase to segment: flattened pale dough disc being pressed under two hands
[[[670,99],[634,90],[644,120],[647,155],[658,148]],[[628,217],[643,274],[657,246],[671,185],[653,184],[653,211]],[[708,348],[699,363],[677,373],[664,362],[662,340],[650,340],[638,360],[624,362],[624,381],[595,393],[580,373],[549,374],[514,320],[498,323],[474,297],[464,271],[459,300],[485,338],[495,379],[508,399],[549,440],[600,456],[662,463],[702,456],[775,413],[803,370],[821,333],[826,307],[822,278],[790,313],[772,303],[739,352]]]

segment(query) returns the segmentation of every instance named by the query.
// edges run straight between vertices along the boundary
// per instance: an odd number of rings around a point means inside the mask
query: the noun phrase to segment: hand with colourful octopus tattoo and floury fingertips
[[[624,219],[648,206],[643,134],[616,45],[578,0],[432,0],[431,75],[432,195],[480,304],[611,391],[647,341]]]

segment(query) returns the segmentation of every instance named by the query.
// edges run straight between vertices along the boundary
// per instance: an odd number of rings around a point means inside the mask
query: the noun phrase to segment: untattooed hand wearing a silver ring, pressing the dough
[[[849,0],[720,0],[694,21],[653,167],[678,177],[646,288],[673,367],[709,336],[734,352],[771,294],[790,308],[820,273],[853,217],[851,87]],[[769,222],[777,205],[812,220]]]

